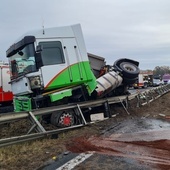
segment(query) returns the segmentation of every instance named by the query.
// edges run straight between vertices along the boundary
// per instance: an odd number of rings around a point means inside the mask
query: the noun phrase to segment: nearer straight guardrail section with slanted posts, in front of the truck
[[[38,138],[43,138],[43,137],[50,136],[52,134],[57,134],[63,131],[85,126],[88,123],[86,122],[81,109],[90,108],[90,107],[92,108],[92,107],[97,107],[101,105],[108,107],[109,104],[119,103],[123,101],[127,101],[126,95],[99,99],[95,101],[80,102],[78,104],[74,103],[74,104],[60,105],[60,106],[55,106],[55,107],[48,107],[48,108],[43,108],[43,109],[38,109],[38,110],[32,110],[31,112],[18,112],[18,113],[11,112],[11,113],[6,113],[6,114],[1,114],[0,115],[1,126],[6,123],[17,122],[18,120],[21,120],[21,119],[29,119],[32,124],[32,127],[29,129],[29,131],[25,135],[0,139],[0,147],[8,146],[11,144],[16,144],[20,142],[25,142],[29,140],[34,140]],[[45,130],[45,128],[40,123],[40,121],[38,121],[36,118],[36,116],[46,115],[51,112],[67,110],[67,109],[76,109],[77,113],[82,118],[82,123],[75,125],[75,126],[67,127],[67,128]],[[108,114],[107,117],[111,117],[111,115]],[[36,130],[36,133],[29,134],[30,132],[33,131],[33,129]]]

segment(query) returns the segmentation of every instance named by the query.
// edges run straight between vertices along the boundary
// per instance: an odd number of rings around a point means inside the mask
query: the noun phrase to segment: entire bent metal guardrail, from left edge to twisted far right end
[[[58,134],[64,131],[68,131],[70,129],[75,129],[79,128],[85,125],[88,125],[86,122],[82,110],[83,108],[89,108],[89,107],[97,107],[101,105],[105,105],[106,103],[111,105],[113,103],[121,103],[125,111],[128,112],[128,102],[130,100],[136,99],[136,107],[141,107],[145,104],[148,104],[152,102],[153,100],[161,97],[163,94],[167,93],[170,91],[170,86],[160,86],[156,88],[152,88],[150,90],[146,90],[144,92],[136,92],[135,94],[132,95],[124,95],[124,96],[117,96],[117,97],[110,97],[110,98],[105,98],[105,99],[98,99],[95,101],[87,101],[87,102],[80,102],[78,104],[70,103],[67,105],[60,105],[60,106],[55,106],[55,107],[48,107],[48,108],[43,108],[43,109],[38,109],[38,110],[32,110],[32,112],[11,112],[11,113],[6,113],[6,114],[1,114],[0,115],[0,124],[4,123],[10,123],[14,121],[18,121],[20,119],[29,119],[32,123],[31,129],[28,131],[26,135],[21,135],[21,136],[16,136],[16,137],[10,137],[10,138],[5,138],[5,139],[0,139],[0,147],[7,146],[7,145],[12,145],[20,142],[25,142],[29,140],[34,140],[38,138],[44,138],[48,137],[52,134]],[[126,106],[123,104],[123,102],[126,103]],[[55,130],[48,130],[46,131],[45,128],[41,125],[41,123],[37,120],[36,116],[39,115],[46,115],[51,112],[56,112],[56,111],[61,111],[61,110],[67,110],[67,109],[77,109],[78,114],[82,118],[82,123],[79,125],[67,127],[67,128],[60,128],[60,129],[55,129]],[[110,117],[108,115],[108,117]],[[2,126],[2,125],[1,125]],[[32,130],[35,129],[37,133],[32,133]]]

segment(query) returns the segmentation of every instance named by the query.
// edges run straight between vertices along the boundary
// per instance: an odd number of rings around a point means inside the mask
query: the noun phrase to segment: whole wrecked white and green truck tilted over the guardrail
[[[104,58],[87,53],[80,24],[29,32],[6,56],[15,112],[126,94],[139,74],[137,61],[121,58],[106,65]],[[71,126],[75,114],[64,110],[43,119]]]

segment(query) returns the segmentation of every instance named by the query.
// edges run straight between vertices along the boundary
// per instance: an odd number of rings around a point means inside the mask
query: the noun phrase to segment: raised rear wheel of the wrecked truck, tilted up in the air
[[[120,64],[120,69],[122,70],[123,76],[126,78],[136,78],[140,72],[135,64],[129,62],[122,62]]]

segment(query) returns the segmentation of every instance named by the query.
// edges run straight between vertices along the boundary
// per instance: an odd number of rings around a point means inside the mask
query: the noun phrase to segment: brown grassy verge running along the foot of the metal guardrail
[[[130,112],[130,116],[140,117],[147,114],[152,116],[159,115],[159,113],[170,115],[169,98],[170,93],[162,96],[150,105],[141,108],[133,107],[128,111]],[[119,115],[104,122],[61,133],[57,139],[41,139],[0,148],[0,170],[37,169],[48,160],[52,160],[54,156],[57,157],[66,151],[66,144],[71,139],[79,136],[98,135],[100,130],[107,128],[109,124],[111,125],[113,122],[118,122],[129,116],[122,107],[111,107],[111,110],[113,114],[119,113]],[[16,134],[19,131],[25,132],[25,127],[27,127],[27,122],[17,122],[16,124],[5,127],[6,131],[1,131],[0,137],[7,132],[10,132],[10,134]]]

